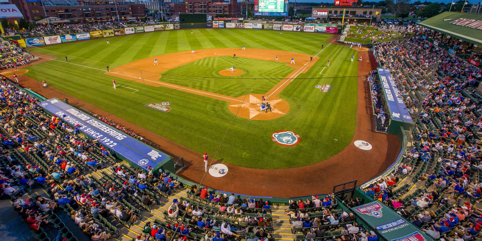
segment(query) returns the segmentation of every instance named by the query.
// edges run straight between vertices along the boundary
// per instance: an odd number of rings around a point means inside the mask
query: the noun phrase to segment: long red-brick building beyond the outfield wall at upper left
[[[10,0],[17,5],[24,19],[33,23],[43,17],[58,17],[76,23],[84,23],[89,20],[112,20],[119,14],[120,20],[130,18],[142,18],[146,16],[144,4],[131,4],[125,1],[117,1],[109,4],[109,1],[76,1],[76,0],[41,0],[42,2],[29,2],[27,0]],[[111,1],[110,1],[111,2]],[[42,7],[45,7],[45,12]]]

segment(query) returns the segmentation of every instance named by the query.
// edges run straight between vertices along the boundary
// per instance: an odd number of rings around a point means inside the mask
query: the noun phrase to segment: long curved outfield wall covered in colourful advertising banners
[[[235,21],[237,22],[237,21]],[[281,24],[275,22],[245,22],[234,23],[232,21],[215,20],[207,23],[186,23],[186,24],[160,24],[147,25],[140,27],[124,27],[109,30],[98,30],[90,32],[81,32],[73,34],[62,34],[47,37],[36,37],[28,39],[20,39],[18,43],[20,47],[40,47],[44,45],[52,45],[59,43],[69,43],[82,40],[101,39],[136,33],[146,33],[164,30],[187,29],[187,28],[245,28],[245,29],[261,29],[261,30],[277,30],[277,31],[295,31],[295,32],[310,32],[310,33],[328,33],[339,34],[343,25],[336,24]]]

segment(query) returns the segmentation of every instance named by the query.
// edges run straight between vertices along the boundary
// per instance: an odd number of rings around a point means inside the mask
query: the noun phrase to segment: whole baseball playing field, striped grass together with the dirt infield
[[[358,51],[331,37],[247,29],[150,32],[112,37],[108,45],[98,39],[30,48],[50,57],[25,75],[218,161],[299,167],[334,156],[355,132],[359,63],[350,56],[358,59]],[[262,96],[271,111],[260,111]]]

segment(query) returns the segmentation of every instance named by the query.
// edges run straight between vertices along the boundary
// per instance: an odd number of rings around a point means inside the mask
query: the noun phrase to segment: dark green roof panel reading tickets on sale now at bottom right
[[[423,232],[420,232],[412,223],[403,219],[399,214],[389,209],[379,201],[370,202],[354,208],[354,213],[384,240],[391,241],[432,241]]]

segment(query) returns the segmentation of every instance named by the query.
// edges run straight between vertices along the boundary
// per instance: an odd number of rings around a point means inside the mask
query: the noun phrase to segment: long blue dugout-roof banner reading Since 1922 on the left
[[[57,98],[40,102],[40,107],[62,119],[72,126],[80,125],[78,129],[94,140],[114,150],[116,154],[147,170],[154,168],[170,157],[144,143],[134,139],[114,127],[80,112]]]

